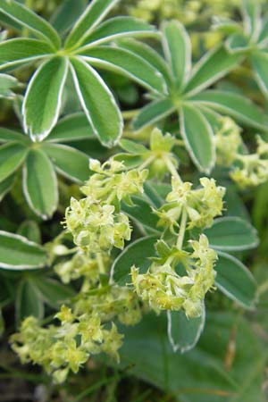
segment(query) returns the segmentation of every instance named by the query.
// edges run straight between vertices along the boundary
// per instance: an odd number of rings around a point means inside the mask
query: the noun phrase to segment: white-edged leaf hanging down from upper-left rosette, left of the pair
[[[35,72],[22,105],[23,125],[34,141],[46,138],[56,124],[62,105],[68,60],[55,57]]]

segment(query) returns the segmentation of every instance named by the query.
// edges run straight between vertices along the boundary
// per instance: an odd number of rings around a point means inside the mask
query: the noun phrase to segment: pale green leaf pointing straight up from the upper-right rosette
[[[191,42],[179,21],[163,23],[163,51],[175,83],[182,88],[191,72]]]

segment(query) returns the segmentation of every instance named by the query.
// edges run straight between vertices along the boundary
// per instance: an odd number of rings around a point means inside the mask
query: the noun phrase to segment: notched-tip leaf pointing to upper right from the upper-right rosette
[[[224,46],[207,52],[193,69],[185,92],[193,95],[208,88],[239,65],[241,56],[229,54]]]

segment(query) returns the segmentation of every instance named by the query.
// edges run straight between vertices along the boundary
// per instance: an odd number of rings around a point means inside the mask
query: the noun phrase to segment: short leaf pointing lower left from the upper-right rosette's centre
[[[163,120],[177,110],[172,100],[169,98],[157,99],[154,102],[144,106],[133,119],[132,126],[134,130],[142,130],[147,126]]]

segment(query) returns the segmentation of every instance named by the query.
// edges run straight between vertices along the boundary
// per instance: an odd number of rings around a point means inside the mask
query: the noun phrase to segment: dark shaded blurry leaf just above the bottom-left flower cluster
[[[74,291],[51,278],[35,278],[35,285],[47,305],[58,307],[74,296]]]

